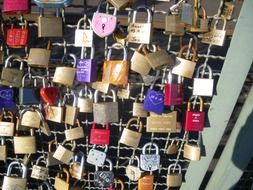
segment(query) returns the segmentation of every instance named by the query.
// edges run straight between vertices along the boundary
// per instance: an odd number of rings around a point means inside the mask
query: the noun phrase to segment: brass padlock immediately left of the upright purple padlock
[[[72,53],[66,54],[62,57],[61,63],[63,64],[65,59],[70,57],[73,59],[71,64],[73,67],[66,67],[66,66],[61,66],[61,67],[56,67],[54,77],[53,77],[53,82],[63,84],[66,86],[72,86],[75,80],[75,74],[76,74],[76,56]],[[68,60],[67,60],[68,61]]]

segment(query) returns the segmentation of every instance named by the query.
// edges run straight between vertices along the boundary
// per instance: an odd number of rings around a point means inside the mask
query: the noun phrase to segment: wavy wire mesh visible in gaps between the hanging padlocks
[[[221,0],[219,9],[217,10],[217,15],[219,15],[221,12],[222,4],[223,4],[223,1]],[[75,7],[78,7],[78,6],[75,6]],[[156,10],[155,6],[153,6],[152,8],[154,12],[157,14],[167,14],[167,12],[165,11]],[[107,12],[111,9],[112,7],[110,7],[109,4],[107,4],[106,6]],[[130,15],[129,12],[131,11],[131,9],[127,9],[126,11],[128,11],[128,15]],[[80,49],[75,48],[74,43],[73,43],[73,36],[74,36],[74,31],[76,29],[76,24],[68,23],[68,20],[71,20],[73,22],[73,17],[70,15],[66,15],[64,11],[63,11],[63,17],[64,17],[63,20],[65,21],[64,30],[65,30],[65,34],[67,35],[63,39],[56,39],[53,41],[52,52],[57,52],[57,54],[53,54],[53,59],[55,58],[55,60],[59,60],[59,56],[61,56],[62,54],[70,53],[70,52],[75,53],[77,57],[80,57]],[[78,20],[75,20],[75,21],[77,23]],[[235,20],[232,20],[232,22],[234,21]],[[217,22],[215,24],[217,24]],[[29,23],[29,26],[34,28],[35,30],[37,29],[36,23]],[[101,63],[102,63],[104,55],[106,55],[107,47],[112,44],[112,39],[105,38],[104,44],[103,44],[104,47],[103,45],[102,46],[100,45],[102,41],[103,39],[99,39],[99,45],[98,45],[98,48],[96,49],[98,53],[95,54],[95,58],[97,58],[99,62]],[[154,41],[158,42],[158,44],[162,48],[167,47],[167,50],[174,55],[178,53],[178,50],[180,48],[180,44],[178,43],[179,41],[178,37],[174,37],[171,35],[165,36],[163,35],[163,31],[161,30],[154,31]],[[189,43],[190,45],[192,44],[192,41],[193,39],[191,38],[191,36],[190,37],[188,36],[183,39],[184,43]],[[205,45],[205,44],[201,44],[199,47],[198,65],[201,65],[201,64],[207,65],[209,63],[213,68],[213,74],[216,79],[216,82],[218,80],[218,76],[220,74],[220,69],[222,67],[223,61],[225,60],[225,55],[226,55],[228,46],[229,46],[229,39],[227,38],[225,46],[222,48],[216,48],[215,46]],[[129,47],[129,49],[130,49],[129,51],[130,53],[129,53],[128,58],[130,58],[133,53],[133,51],[131,51],[133,50],[133,48]],[[213,50],[216,50],[216,49],[218,49],[218,51],[212,52]],[[102,52],[104,52],[104,55]],[[7,51],[7,53],[9,53],[9,51]],[[101,66],[102,64],[99,64],[99,65]],[[162,82],[166,79],[166,75],[167,75],[167,70],[166,69],[162,70],[161,72],[162,80],[160,83],[155,84],[156,88],[161,89],[161,90],[163,89],[164,85]],[[186,92],[184,100],[186,102],[187,99],[191,96],[192,80],[185,79],[184,82],[185,82],[185,92]],[[168,173],[168,166],[170,164],[178,163],[181,165],[183,173],[187,171],[187,166],[188,166],[189,161],[182,157],[182,149],[186,141],[186,133],[182,130],[181,133],[156,134],[156,133],[146,133],[144,132],[145,129],[143,129],[141,142],[138,148],[134,149],[134,148],[120,144],[119,139],[121,137],[121,133],[124,127],[126,127],[127,121],[130,118],[132,118],[132,105],[136,99],[136,95],[141,93],[141,97],[144,97],[147,88],[149,88],[149,85],[144,84],[143,82],[139,82],[139,81],[132,83],[131,86],[133,87],[133,90],[131,91],[129,99],[118,98],[120,122],[110,124],[111,136],[110,136],[110,146],[107,151],[107,157],[110,158],[113,162],[113,172],[114,172],[115,177],[124,181],[125,188],[137,189],[138,182],[130,181],[128,179],[128,177],[125,174],[125,168],[129,164],[129,161],[133,155],[140,156],[140,154],[142,154],[142,147],[145,143],[147,142],[157,143],[159,145],[159,154],[161,156],[161,163],[160,163],[159,170],[153,172],[153,175],[155,176],[154,190],[168,189],[166,185],[166,177]],[[77,85],[77,87],[80,87],[80,86]],[[106,100],[112,99],[112,97],[108,95],[104,96],[104,100],[105,98]],[[211,101],[211,98],[205,98],[205,110],[208,109],[210,101]],[[182,112],[180,122],[183,126],[183,113],[185,112],[185,104],[182,106],[179,106],[178,108],[181,109],[181,112]],[[76,141],[77,147],[75,149],[75,152],[82,151],[85,153],[85,155],[87,155],[89,150],[92,148],[92,145],[89,144],[89,134],[90,134],[91,124],[92,124],[92,119],[93,119],[92,114],[79,114],[79,120],[82,123],[82,127],[85,131],[86,136],[84,139],[80,139]],[[146,124],[146,119],[142,118],[141,121],[144,124]],[[64,125],[55,124],[52,122],[48,122],[48,124],[53,134],[53,138],[57,142],[61,143],[63,139],[65,138]],[[205,126],[208,127],[208,125],[209,123],[207,120]],[[190,136],[189,141],[196,143],[197,138],[191,138],[191,137],[192,136]],[[193,134],[193,137],[196,137],[196,135]],[[35,164],[36,159],[40,156],[44,156],[46,158],[46,153],[48,151],[48,141],[51,140],[52,137],[47,137],[44,134],[42,134],[39,130],[37,130],[36,139],[37,139],[38,151],[36,155],[31,156],[31,162],[28,164],[28,167],[29,167],[28,178],[32,170],[32,165]],[[176,155],[167,155],[165,154],[166,148],[173,141],[173,139],[178,139],[180,141],[180,148]],[[7,162],[5,164],[0,165],[1,167],[0,171],[5,171],[5,172],[0,173],[0,176],[2,177],[6,175],[7,166],[11,161],[23,159],[21,156],[17,156],[13,154],[13,148],[12,148],[13,139],[7,138],[6,144],[8,147],[9,156],[7,157]],[[70,143],[67,143],[66,146],[69,146],[69,144]],[[151,151],[154,151],[154,150],[152,149]],[[64,167],[68,167],[68,166],[64,166]],[[57,171],[61,168],[62,166],[50,167],[50,177],[49,177],[48,182],[50,183],[51,186],[53,186],[54,184],[54,177],[56,176]],[[108,170],[108,166],[105,166],[104,169]],[[83,189],[106,189],[106,188],[94,187],[93,185],[94,171],[95,171],[94,166],[91,166],[86,163],[85,170],[88,171],[88,175],[80,182],[71,180],[71,184],[77,183],[80,186],[84,184]],[[29,189],[37,189],[37,185],[38,185],[38,181],[29,178],[28,180]]]

